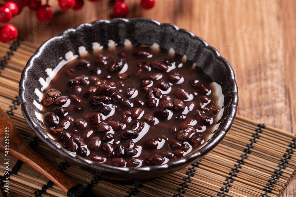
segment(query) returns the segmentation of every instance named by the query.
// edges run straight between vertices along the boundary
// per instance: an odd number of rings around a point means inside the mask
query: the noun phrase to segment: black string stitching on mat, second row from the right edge
[[[233,181],[234,181],[232,178],[237,176],[236,173],[239,172],[239,168],[242,168],[241,165],[244,165],[244,159],[248,158],[247,154],[252,152],[250,149],[254,148],[253,143],[256,143],[256,139],[259,139],[260,136],[258,134],[262,133],[261,128],[265,128],[265,125],[259,124],[258,128],[255,129],[256,134],[252,134],[253,139],[250,139],[251,143],[246,145],[247,148],[244,149],[244,154],[241,154],[241,156],[240,156],[240,157],[242,157],[242,159],[237,160],[238,164],[234,164],[235,168],[232,168],[231,172],[229,172],[230,177],[225,179],[225,181],[227,181],[226,183],[223,183],[223,185],[225,185],[225,187],[220,188],[220,190],[222,192],[218,192],[217,196],[220,196],[220,197],[227,196],[225,193],[228,193],[228,191],[229,191],[228,187],[231,187],[230,183],[233,183]],[[266,197],[269,197],[269,196],[266,196]]]

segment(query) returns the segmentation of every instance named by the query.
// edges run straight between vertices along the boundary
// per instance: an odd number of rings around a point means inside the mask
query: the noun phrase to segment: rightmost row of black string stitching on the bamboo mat
[[[281,164],[278,165],[279,169],[278,170],[274,170],[274,175],[271,175],[271,178],[268,179],[268,183],[266,183],[266,186],[263,191],[265,191],[265,193],[261,193],[260,196],[263,197],[268,197],[267,193],[271,193],[272,189],[274,187],[273,184],[276,183],[276,179],[279,179],[280,176],[283,174],[283,171],[281,171],[281,169],[285,169],[287,166],[285,166],[285,163],[288,163],[287,159],[291,159],[292,155],[294,153],[293,149],[296,148],[296,140],[292,139],[293,143],[289,144],[290,149],[287,149],[286,152],[284,153],[283,157],[284,159],[281,159],[280,161],[282,162]]]

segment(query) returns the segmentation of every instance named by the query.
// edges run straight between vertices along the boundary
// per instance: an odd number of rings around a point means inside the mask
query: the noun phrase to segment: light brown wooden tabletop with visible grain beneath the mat
[[[140,0],[126,0],[128,18],[173,23],[205,39],[234,69],[239,88],[237,113],[296,134],[295,1],[155,1],[153,9],[143,10]],[[83,9],[67,12],[59,10],[57,1],[49,4],[55,14],[48,25],[42,26],[28,8],[12,19],[20,38],[40,45],[67,28],[111,17],[108,0],[85,1]],[[295,193],[296,178],[281,196]],[[9,192],[13,196],[20,195]]]

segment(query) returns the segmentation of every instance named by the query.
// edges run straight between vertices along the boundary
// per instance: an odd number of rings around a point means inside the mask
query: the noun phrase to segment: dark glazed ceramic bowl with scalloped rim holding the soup
[[[125,39],[133,45],[157,43],[160,48],[168,50],[173,48],[176,54],[186,55],[187,60],[196,63],[198,69],[202,69],[214,82],[222,87],[224,95],[224,112],[220,126],[210,139],[199,150],[173,162],[158,166],[148,167],[114,167],[84,159],[78,155],[71,154],[65,148],[57,144],[46,133],[40,120],[40,92],[46,79],[48,68],[55,68],[57,64],[65,59],[65,53],[72,51],[79,55],[78,47],[85,46],[86,51],[93,51],[94,42],[108,47],[108,40],[114,40],[121,46]],[[197,162],[209,153],[226,135],[234,121],[237,111],[238,94],[234,72],[229,63],[220,56],[218,51],[210,47],[204,40],[194,36],[191,32],[179,29],[172,24],[161,24],[152,19],[113,19],[98,20],[92,23],[84,23],[62,32],[60,35],[47,40],[30,58],[22,72],[20,80],[20,102],[22,113],[35,131],[37,136],[47,144],[56,154],[64,157],[67,161],[78,165],[80,168],[99,173],[100,176],[112,180],[151,180]],[[123,182],[128,183],[128,182]]]

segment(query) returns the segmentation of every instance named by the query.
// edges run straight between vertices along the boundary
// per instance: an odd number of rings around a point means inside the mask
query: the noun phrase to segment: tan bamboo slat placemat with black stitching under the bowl
[[[295,174],[295,135],[237,116],[223,141],[206,157],[186,168],[147,183],[108,183],[67,163],[50,151],[23,118],[18,83],[36,46],[22,41],[0,42],[0,105],[7,111],[25,143],[77,183],[100,196],[279,196]],[[4,153],[0,153],[4,158]],[[1,162],[2,163],[2,162]],[[66,196],[43,175],[10,157],[9,191],[23,196]],[[3,175],[1,169],[1,191]],[[97,173],[99,174],[99,173]]]

